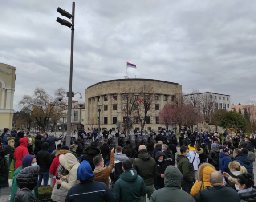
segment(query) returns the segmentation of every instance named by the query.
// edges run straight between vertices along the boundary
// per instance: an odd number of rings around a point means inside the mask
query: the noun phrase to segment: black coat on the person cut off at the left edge
[[[12,147],[10,145],[7,145],[2,150],[0,150],[0,188],[9,186],[9,166],[4,156],[11,153]]]

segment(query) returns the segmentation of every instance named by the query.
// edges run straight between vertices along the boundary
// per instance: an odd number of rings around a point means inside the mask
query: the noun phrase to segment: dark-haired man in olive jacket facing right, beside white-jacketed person
[[[183,175],[181,181],[182,189],[190,194],[191,188],[195,182],[195,174],[188,157],[190,157],[189,148],[187,146],[181,146],[180,153],[177,153],[177,167]]]

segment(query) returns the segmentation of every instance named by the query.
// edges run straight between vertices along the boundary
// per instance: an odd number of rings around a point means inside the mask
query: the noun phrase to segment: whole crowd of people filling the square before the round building
[[[8,186],[4,174],[9,174],[13,160],[10,201],[37,201],[38,187],[42,181],[48,186],[50,174],[51,199],[56,202],[146,202],[146,197],[150,202],[256,201],[255,133],[247,137],[228,129],[223,135],[188,129],[179,136],[178,152],[171,130],[134,131],[137,141],[132,143],[130,136],[104,129],[102,145],[95,131],[80,133],[70,147],[62,137],[39,132],[33,147],[29,132],[24,137],[22,131],[4,129],[0,182]],[[138,136],[146,141],[138,141]],[[85,148],[88,137],[93,141]]]

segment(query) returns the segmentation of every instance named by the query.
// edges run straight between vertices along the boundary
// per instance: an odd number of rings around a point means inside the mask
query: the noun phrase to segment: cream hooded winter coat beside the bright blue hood
[[[59,157],[61,165],[69,171],[67,175],[68,182],[62,182],[61,187],[66,190],[70,190],[72,186],[79,184],[79,180],[77,180],[77,168],[80,163],[77,161],[77,158],[71,153],[61,154]]]

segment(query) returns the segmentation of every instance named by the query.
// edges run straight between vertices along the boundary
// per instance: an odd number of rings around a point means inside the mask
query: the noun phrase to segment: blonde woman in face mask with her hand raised
[[[238,176],[243,173],[248,173],[244,166],[241,166],[239,162],[233,161],[228,164],[228,168],[233,176]],[[228,173],[223,172],[223,176],[228,178],[227,185],[235,189],[235,178],[230,176]]]

